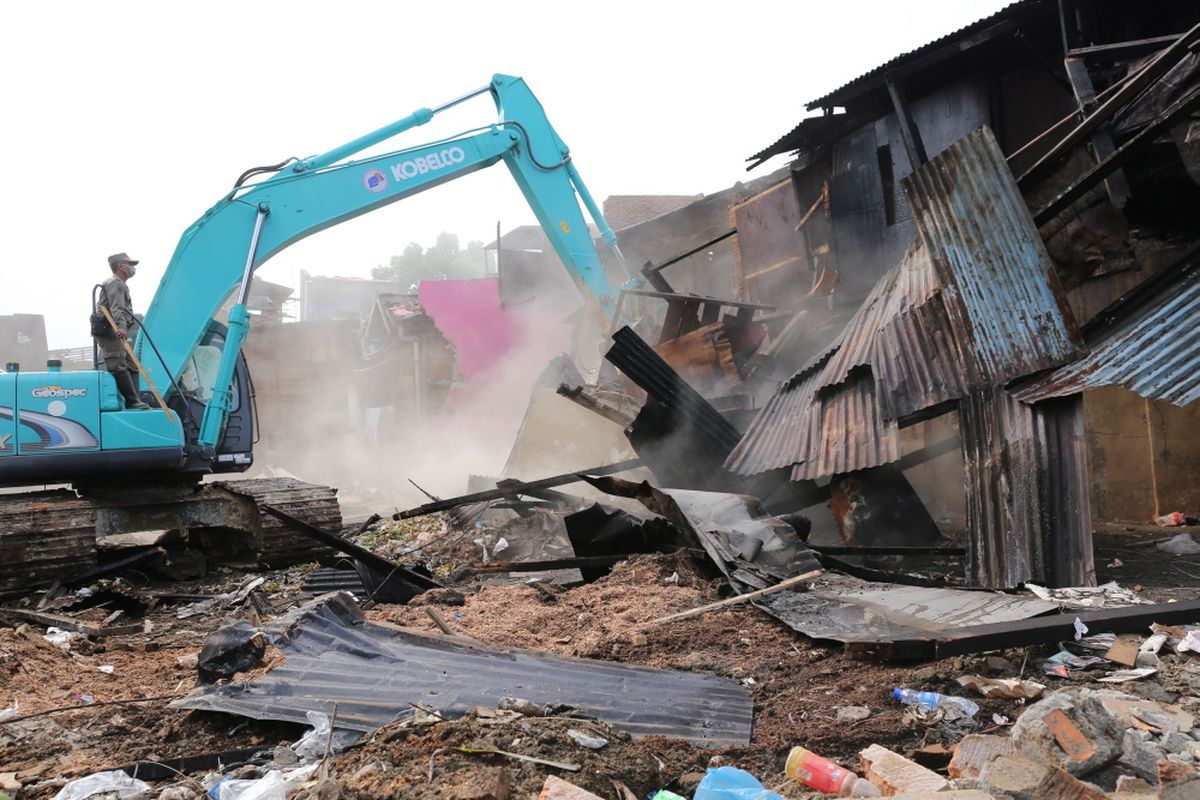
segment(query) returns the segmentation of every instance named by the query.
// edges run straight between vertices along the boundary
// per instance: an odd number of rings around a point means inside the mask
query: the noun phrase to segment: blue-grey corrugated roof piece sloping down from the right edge
[[[1200,399],[1200,273],[1171,287],[1159,303],[1116,327],[1079,361],[1021,387],[1036,403],[1098,386],[1124,386],[1150,399]]]

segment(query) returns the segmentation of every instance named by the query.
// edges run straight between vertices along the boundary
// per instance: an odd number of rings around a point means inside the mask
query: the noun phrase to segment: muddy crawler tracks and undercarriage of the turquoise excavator
[[[180,530],[218,559],[277,567],[332,553],[262,510],[338,533],[337,491],[295,479],[0,493],[0,595],[86,573],[120,537]]]

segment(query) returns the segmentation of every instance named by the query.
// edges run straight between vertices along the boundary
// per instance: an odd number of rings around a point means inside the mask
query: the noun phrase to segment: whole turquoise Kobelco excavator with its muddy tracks
[[[353,158],[481,95],[492,96],[496,121]],[[0,486],[72,487],[0,494],[0,594],[95,566],[97,545],[139,531],[203,539],[233,529],[248,534],[242,554],[259,563],[305,558],[310,543],[258,506],[336,528],[335,489],[287,479],[200,481],[253,463],[241,345],[254,271],[305,236],[502,161],[587,305],[611,318],[614,296],[584,211],[624,269],[616,235],[521,78],[497,74],[322,155],[246,170],[180,237],[142,320],[132,349],[150,410],[126,409],[103,369],[64,372],[50,362],[0,373]],[[230,299],[222,324],[216,317]]]

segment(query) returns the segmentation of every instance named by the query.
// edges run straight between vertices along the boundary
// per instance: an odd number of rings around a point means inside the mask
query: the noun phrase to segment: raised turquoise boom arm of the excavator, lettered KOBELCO
[[[492,94],[500,119],[479,132],[342,161],[424,125],[436,114],[419,109],[269,180],[235,188],[184,233],[145,317],[157,354],[143,349],[144,337],[139,337],[138,351],[155,383],[178,380],[221,305],[241,285],[214,398],[202,425],[202,444],[212,444],[227,410],[221,407],[227,404],[233,361],[248,325],[242,303],[258,266],[305,236],[499,161],[508,166],[584,299],[596,313],[611,317],[612,291],[581,203],[614,248],[616,237],[570,163],[566,146],[522,79],[496,76],[486,91]]]

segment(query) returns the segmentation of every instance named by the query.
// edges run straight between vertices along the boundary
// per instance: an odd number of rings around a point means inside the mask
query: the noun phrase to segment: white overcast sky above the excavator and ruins
[[[138,312],[184,229],[248,167],[329,150],[412,110],[521,76],[598,200],[712,193],[817,97],[1002,0],[726,4],[20,2],[4,11],[0,314],[89,343],[106,257],[142,260]],[[487,97],[396,139],[496,119]],[[367,277],[442,230],[534,222],[503,166],[317,234],[259,275]]]

